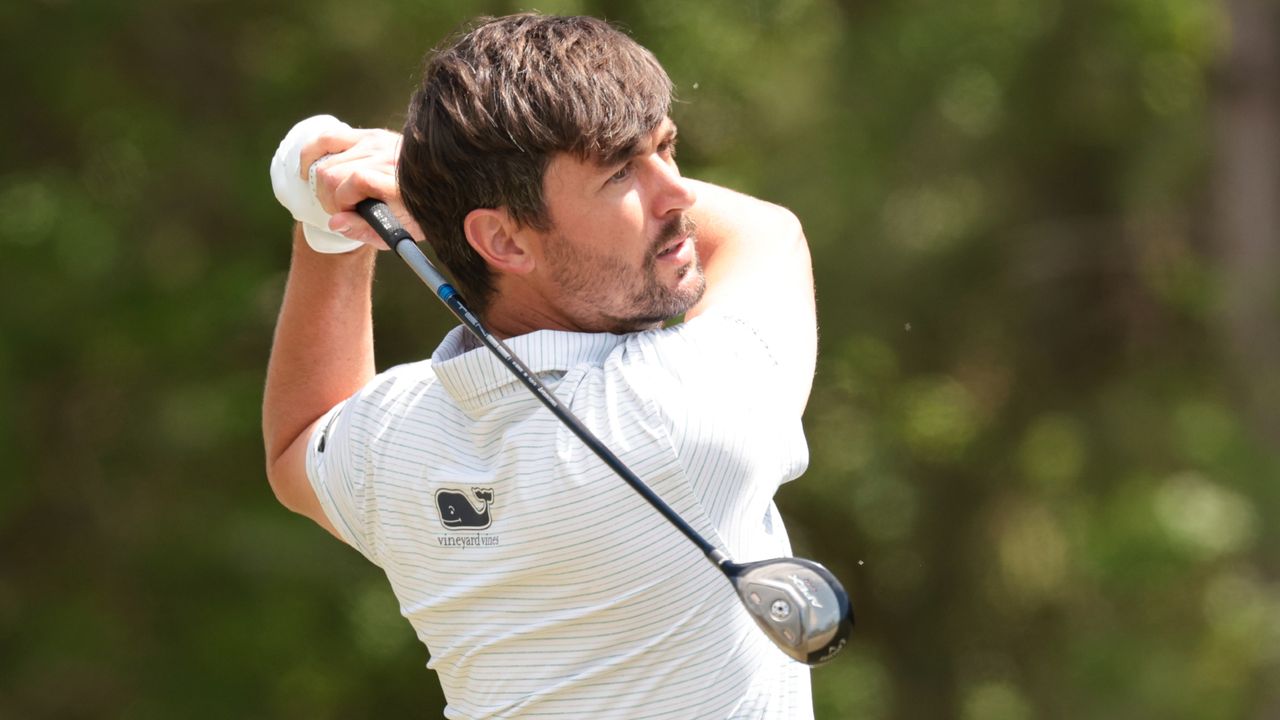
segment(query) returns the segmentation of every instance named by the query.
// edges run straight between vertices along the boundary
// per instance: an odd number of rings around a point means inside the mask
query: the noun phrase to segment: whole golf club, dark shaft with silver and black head
[[[520,379],[538,400],[573,432],[600,460],[627,482],[658,512],[696,544],[733,583],[742,605],[782,652],[808,665],[822,665],[849,642],[854,611],[849,594],[826,568],[799,557],[733,562],[671,509],[595,437],[507,346],[489,333],[448,279],[431,265],[384,202],[364,200],[356,210],[425,282],[454,316]]]

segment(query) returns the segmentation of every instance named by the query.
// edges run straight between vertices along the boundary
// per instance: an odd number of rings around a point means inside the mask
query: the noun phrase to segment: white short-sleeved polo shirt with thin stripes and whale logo
[[[790,555],[773,493],[808,448],[780,397],[788,364],[748,322],[507,345],[712,543],[739,561]],[[316,495],[385,570],[445,717],[813,716],[808,666],[461,327],[317,428]]]

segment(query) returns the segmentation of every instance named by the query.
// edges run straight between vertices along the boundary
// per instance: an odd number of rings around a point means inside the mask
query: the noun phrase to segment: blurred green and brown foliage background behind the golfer
[[[0,716],[439,716],[379,571],[262,473],[266,167],[529,8],[0,4]],[[805,222],[778,502],[859,612],[819,717],[1280,717],[1276,3],[536,8],[630,28],[685,174]],[[383,264],[388,366],[448,323]]]

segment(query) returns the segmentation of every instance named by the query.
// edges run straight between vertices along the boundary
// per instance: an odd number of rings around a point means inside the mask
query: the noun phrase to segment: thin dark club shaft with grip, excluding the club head
[[[484,327],[480,318],[467,307],[463,302],[462,296],[449,284],[448,279],[431,264],[425,254],[413,242],[412,236],[408,234],[404,228],[401,227],[399,222],[392,214],[390,209],[387,208],[384,202],[378,202],[375,200],[364,200],[357,206],[356,210],[360,213],[365,220],[378,234],[387,242],[387,246],[396,251],[401,259],[413,270],[413,273],[426,283],[428,287],[435,293],[435,296],[444,304],[445,307],[453,313],[453,316],[458,319],[462,325],[471,332],[485,347],[488,347],[498,360],[507,366],[508,370],[516,379],[527,387],[538,400],[547,406],[548,410],[556,415],[561,423],[564,424],[579,439],[582,441],[586,447],[594,452],[605,465],[609,466],[620,478],[626,480],[632,489],[640,493],[640,497],[645,498],[649,505],[662,514],[672,525],[676,527],[690,542],[698,546],[703,551],[703,555],[716,565],[722,571],[726,571],[726,564],[728,564],[728,556],[707,541],[698,530],[695,530],[689,523],[685,521],[675,510],[667,505],[658,493],[645,484],[639,475],[631,471],[630,468],[618,459],[617,455],[611,451],[600,438],[582,424],[573,413],[571,413],[561,401],[556,397],[556,393],[550,391],[538,377],[525,365],[524,361],[517,357],[511,348],[507,347],[504,342],[497,338],[493,333]]]

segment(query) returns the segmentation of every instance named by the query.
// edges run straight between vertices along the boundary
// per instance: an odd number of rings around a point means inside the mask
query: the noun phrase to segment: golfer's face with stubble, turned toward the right
[[[611,165],[558,155],[544,191],[553,229],[541,265],[556,302],[582,329],[654,327],[691,307],[705,288],[694,225],[696,196],[680,177],[668,119],[639,151]]]

